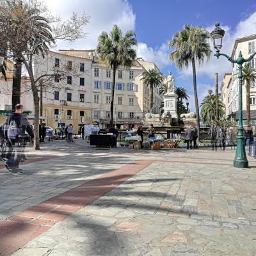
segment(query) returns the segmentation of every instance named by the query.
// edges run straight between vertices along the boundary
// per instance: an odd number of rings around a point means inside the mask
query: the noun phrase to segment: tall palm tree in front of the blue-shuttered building
[[[110,33],[102,32],[98,39],[97,54],[99,60],[113,70],[110,106],[110,127],[113,127],[113,109],[115,95],[116,70],[120,66],[131,67],[136,58],[134,46],[137,40],[133,31],[128,31],[123,36],[122,30],[117,25],[113,26]]]

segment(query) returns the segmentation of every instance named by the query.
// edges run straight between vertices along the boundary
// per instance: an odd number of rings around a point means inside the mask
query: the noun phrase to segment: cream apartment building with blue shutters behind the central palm
[[[108,127],[110,122],[111,88],[113,86],[112,70],[100,63],[93,50],[60,50],[62,54],[72,57],[86,58],[92,61],[91,66],[91,102],[92,120],[100,127]],[[131,68],[119,67],[116,71],[114,124],[120,129],[139,125],[143,116],[150,111],[150,88],[143,86],[141,74],[150,68],[158,68],[154,63],[141,58],[134,61]],[[158,88],[154,88],[153,113],[159,113],[163,101]]]

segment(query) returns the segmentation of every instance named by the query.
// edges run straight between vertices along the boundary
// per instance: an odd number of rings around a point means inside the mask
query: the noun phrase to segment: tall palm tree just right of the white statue
[[[193,70],[193,86],[195,94],[195,109],[196,109],[196,126],[198,134],[200,134],[200,117],[198,96],[196,88],[196,61],[200,64],[205,58],[209,60],[211,56],[211,47],[207,40],[209,39],[209,33],[205,28],[192,27],[184,25],[181,31],[178,31],[173,35],[170,40],[170,47],[175,49],[170,54],[170,60],[174,61],[178,68],[188,67],[189,63],[192,65]]]

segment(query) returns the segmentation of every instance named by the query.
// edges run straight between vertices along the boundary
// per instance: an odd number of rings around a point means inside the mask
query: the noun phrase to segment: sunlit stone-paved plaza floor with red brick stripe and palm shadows
[[[235,150],[45,143],[0,164],[0,255],[256,255],[256,161]],[[3,163],[3,162],[0,162]]]

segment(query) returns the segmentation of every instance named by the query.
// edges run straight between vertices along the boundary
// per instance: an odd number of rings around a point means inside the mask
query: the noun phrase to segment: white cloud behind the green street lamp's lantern
[[[214,27],[215,26],[212,25],[206,29],[207,31],[211,32]],[[256,34],[256,12],[250,15],[250,17],[248,17],[247,19],[241,20],[233,31],[228,26],[222,25],[221,28],[225,29],[226,32],[223,38],[223,47],[221,49],[221,52],[225,52],[230,56],[236,38]],[[211,60],[207,62],[205,61],[203,65],[197,65],[197,74],[206,74],[208,76],[214,77],[214,73],[218,72],[221,77],[224,73],[231,72],[231,63],[223,56],[220,56],[220,58],[217,59],[215,56],[213,56],[214,52],[216,51],[212,47]],[[191,76],[192,68],[189,67],[188,69],[184,69],[180,72],[182,73],[182,75],[185,74],[187,76]]]

